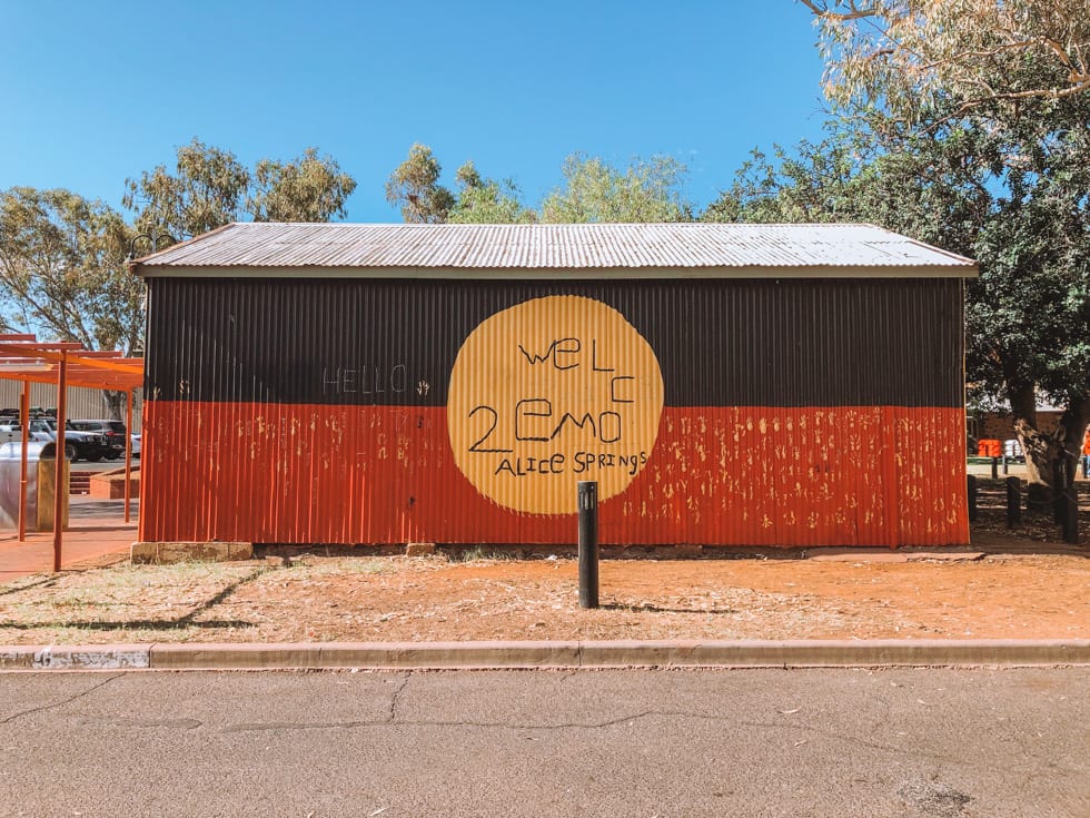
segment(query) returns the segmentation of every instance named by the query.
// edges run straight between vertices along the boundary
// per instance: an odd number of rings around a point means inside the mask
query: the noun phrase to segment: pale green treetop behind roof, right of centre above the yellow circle
[[[564,161],[564,184],[542,203],[542,221],[688,221],[682,194],[686,168],[664,156],[636,159],[621,170],[574,154]]]

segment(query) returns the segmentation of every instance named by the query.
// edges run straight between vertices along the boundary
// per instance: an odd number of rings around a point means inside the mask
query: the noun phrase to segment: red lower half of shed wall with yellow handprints
[[[140,539],[572,543],[455,464],[445,407],[148,401]],[[610,544],[969,541],[964,412],[666,407],[648,462],[600,507]],[[593,480],[594,469],[572,474]],[[527,474],[522,480],[548,480]]]

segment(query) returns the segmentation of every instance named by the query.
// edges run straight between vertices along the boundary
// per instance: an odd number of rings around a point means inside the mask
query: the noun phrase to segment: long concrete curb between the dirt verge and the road
[[[300,642],[0,647],[0,671],[1090,666],[1090,640]]]

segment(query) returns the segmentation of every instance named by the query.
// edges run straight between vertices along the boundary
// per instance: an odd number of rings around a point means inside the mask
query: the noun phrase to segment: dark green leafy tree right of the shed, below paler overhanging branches
[[[1004,127],[957,100],[926,129],[840,120],[818,145],[755,152],[703,218],[871,221],[977,258],[969,381],[1010,405],[1040,497],[1090,422],[1090,95],[1022,105],[1034,116]],[[1039,396],[1064,410],[1056,434]]]

